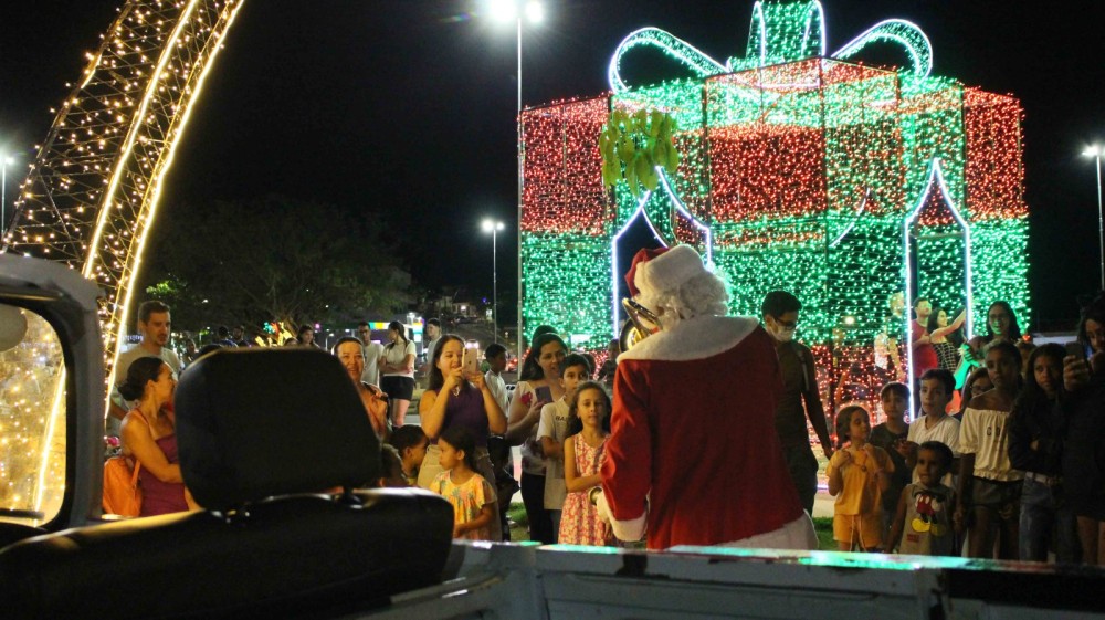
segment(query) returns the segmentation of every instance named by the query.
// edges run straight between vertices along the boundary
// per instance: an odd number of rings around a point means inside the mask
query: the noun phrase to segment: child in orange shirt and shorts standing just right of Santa
[[[825,475],[833,507],[833,539],[840,550],[882,548],[882,493],[890,488],[894,462],[885,450],[867,442],[871,416],[859,404],[836,414],[838,450]]]

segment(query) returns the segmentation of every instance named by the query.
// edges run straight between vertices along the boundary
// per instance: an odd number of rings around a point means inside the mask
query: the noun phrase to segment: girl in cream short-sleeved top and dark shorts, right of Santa
[[[958,505],[953,518],[956,530],[970,527],[970,557],[992,557],[997,537],[998,559],[1017,559],[1023,475],[1009,461],[1009,414],[1021,389],[1021,353],[1011,341],[992,343],[986,370],[993,389],[970,400],[959,427]]]

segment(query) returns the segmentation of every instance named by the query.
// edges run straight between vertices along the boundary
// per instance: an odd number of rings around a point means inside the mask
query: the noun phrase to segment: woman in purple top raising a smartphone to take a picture
[[[495,480],[495,470],[487,454],[487,438],[491,433],[506,432],[506,416],[478,369],[475,372],[464,370],[464,340],[452,334],[442,336],[433,349],[430,387],[419,401],[422,430],[430,438],[425,459],[418,472],[418,485],[422,488],[430,488],[434,477],[441,473],[438,438],[453,427],[464,427],[472,433],[476,444],[476,473],[485,480]],[[492,502],[492,505],[495,506],[495,514],[490,539],[502,540],[498,503]]]

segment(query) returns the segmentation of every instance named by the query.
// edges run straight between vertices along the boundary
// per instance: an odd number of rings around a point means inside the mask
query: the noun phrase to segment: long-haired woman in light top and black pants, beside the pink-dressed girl
[[[552,515],[545,509],[545,453],[537,441],[541,407],[564,398],[560,365],[568,346],[556,334],[541,334],[522,365],[518,385],[511,400],[507,441],[522,444],[522,501],[529,518],[529,539],[551,545],[557,542]]]

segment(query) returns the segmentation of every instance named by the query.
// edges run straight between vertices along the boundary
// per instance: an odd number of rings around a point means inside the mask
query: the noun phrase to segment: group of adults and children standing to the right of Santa
[[[840,548],[1105,564],[1105,297],[1066,347],[1032,345],[996,302],[962,359],[918,354],[962,314],[933,320],[924,298],[914,311],[914,380],[882,388],[885,421],[872,428],[857,403],[836,416],[827,475]],[[957,380],[953,369],[976,360]]]

